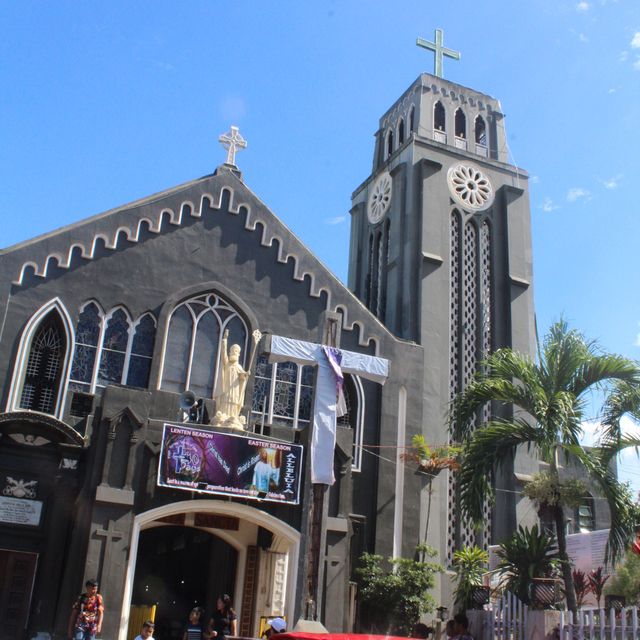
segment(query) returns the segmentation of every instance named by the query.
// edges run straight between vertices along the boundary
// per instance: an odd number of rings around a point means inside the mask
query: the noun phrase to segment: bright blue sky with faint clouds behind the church
[[[342,279],[378,119],[444,29],[532,176],[540,331],[640,358],[637,0],[0,0],[0,24],[0,246],[211,173],[237,124],[247,185]]]

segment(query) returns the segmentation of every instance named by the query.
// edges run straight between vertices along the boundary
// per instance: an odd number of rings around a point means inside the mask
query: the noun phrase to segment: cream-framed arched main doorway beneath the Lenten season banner
[[[187,541],[194,546],[195,556],[182,548],[187,546]],[[196,606],[201,606],[200,600],[204,599],[206,602],[202,606],[208,615],[212,599],[220,592],[232,596],[241,635],[244,630],[244,635],[255,636],[261,619],[273,617],[276,611],[277,615],[292,620],[299,547],[298,531],[265,511],[236,502],[190,500],[137,515],[131,536],[118,640],[127,638],[131,605],[159,602],[158,622],[166,614],[167,624],[172,626],[171,635],[163,632],[157,637],[181,638],[175,634],[186,622],[194,601],[198,600]],[[175,557],[171,561],[160,560],[163,555]],[[197,569],[187,570],[183,566],[184,562],[195,562],[194,557],[205,556],[208,562],[200,561],[201,566]],[[163,564],[162,570],[156,572],[154,563]],[[213,571],[212,566],[215,567]],[[208,576],[205,579],[203,574],[207,571],[219,575],[215,579],[210,580]],[[148,580],[145,582],[144,578]],[[184,587],[181,580],[185,580]],[[256,580],[253,588],[245,588],[247,580]],[[146,587],[149,587],[148,591]],[[161,594],[164,602],[159,597],[149,596],[152,590]],[[147,597],[143,599],[145,592]],[[265,597],[261,597],[263,593]],[[248,597],[248,594],[254,595]]]

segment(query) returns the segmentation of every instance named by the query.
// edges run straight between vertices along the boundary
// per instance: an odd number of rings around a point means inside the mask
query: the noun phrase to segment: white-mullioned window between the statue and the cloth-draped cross
[[[294,428],[311,418],[314,367],[294,362],[271,364],[262,355],[256,364],[251,411],[258,422]]]

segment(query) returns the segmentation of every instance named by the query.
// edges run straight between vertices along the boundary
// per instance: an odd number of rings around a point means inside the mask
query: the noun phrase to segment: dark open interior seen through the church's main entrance
[[[202,607],[209,620],[217,597],[233,596],[236,565],[236,550],[208,531],[172,525],[142,531],[132,608],[155,605],[156,637],[181,640],[191,609]]]

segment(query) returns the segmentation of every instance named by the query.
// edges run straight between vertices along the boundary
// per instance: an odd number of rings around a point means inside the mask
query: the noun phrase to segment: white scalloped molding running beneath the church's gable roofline
[[[245,230],[251,233],[261,233],[260,244],[263,247],[269,248],[277,246],[277,261],[282,264],[286,264],[291,260],[293,263],[293,280],[298,282],[304,282],[306,280],[309,287],[309,296],[312,298],[319,298],[324,294],[327,299],[326,310],[341,312],[342,328],[346,331],[351,331],[354,328],[357,328],[359,331],[358,344],[360,346],[367,347],[369,344],[373,343],[375,353],[376,355],[379,355],[379,338],[372,335],[365,336],[363,322],[359,320],[353,320],[350,322],[347,314],[347,306],[345,304],[336,304],[334,306],[331,299],[331,288],[319,285],[317,283],[315,273],[305,268],[301,255],[303,252],[308,251],[308,249],[306,249],[306,247],[295,236],[293,236],[293,234],[290,234],[286,227],[283,228],[280,233],[278,233],[278,230],[273,230],[272,227],[274,225],[271,220],[271,216],[273,216],[273,214],[271,212],[268,212],[270,214],[269,216],[264,214],[261,215],[259,207],[256,207],[256,209],[258,209],[256,212],[249,204],[245,202],[238,203],[236,191],[232,187],[228,186],[223,186],[217,197],[211,193],[203,193],[200,196],[200,201],[197,207],[192,200],[184,200],[180,206],[175,209],[165,207],[160,209],[156,215],[144,215],[139,219],[132,221],[133,224],[131,226],[120,225],[112,235],[99,232],[87,242],[82,243],[76,241],[65,251],[57,251],[48,254],[40,263],[33,260],[25,261],[22,263],[17,277],[13,280],[13,284],[15,286],[22,286],[25,281],[25,276],[28,277],[28,271],[32,271],[33,276],[35,277],[46,279],[49,277],[50,268],[53,268],[54,270],[55,268],[71,269],[73,258],[76,255],[79,255],[84,260],[94,260],[97,255],[96,247],[98,246],[99,241],[101,245],[104,245],[105,249],[109,251],[116,251],[122,237],[124,237],[128,242],[137,243],[141,239],[141,232],[143,229],[148,229],[148,232],[153,234],[162,233],[163,221],[165,219],[168,219],[168,223],[170,225],[179,227],[190,218],[202,218],[203,212],[206,212],[207,207],[220,212],[223,210],[222,200],[225,192],[229,197],[229,214],[240,215],[243,213],[245,215]],[[135,206],[135,204],[132,205],[132,207]],[[288,235],[289,237],[287,237]],[[290,247],[290,245],[294,245],[294,247]],[[53,267],[51,265],[53,265]],[[318,263],[318,268],[326,270],[326,268],[320,263]],[[329,270],[326,270],[326,274],[334,281],[335,286],[339,287],[345,296],[350,298],[350,306],[355,305],[361,311],[365,312],[363,320],[366,318],[367,323],[374,323],[379,333],[388,334],[389,336],[392,335],[379,320],[368,313],[366,307],[364,307],[360,300],[358,300],[358,298],[356,298],[356,296],[353,295],[353,293],[349,291],[342,282],[338,280],[338,278],[336,278]]]

